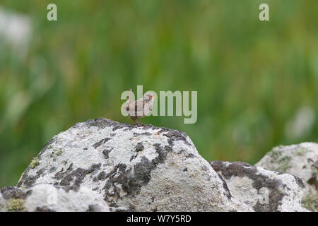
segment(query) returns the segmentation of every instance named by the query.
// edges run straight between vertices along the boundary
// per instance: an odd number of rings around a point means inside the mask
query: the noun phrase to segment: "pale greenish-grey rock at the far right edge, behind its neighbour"
[[[306,187],[302,206],[318,211],[317,143],[278,146],[267,153],[256,165],[300,177]]]

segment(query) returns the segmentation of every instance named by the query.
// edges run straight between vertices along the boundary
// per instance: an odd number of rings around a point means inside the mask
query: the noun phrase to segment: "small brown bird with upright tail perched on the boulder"
[[[145,117],[151,112],[153,109],[153,100],[155,98],[155,94],[152,92],[146,92],[143,97],[138,100],[132,102],[132,91],[130,89],[130,95],[127,100],[126,105],[124,106],[125,111],[128,113],[129,117],[136,122],[138,126],[146,126],[145,124],[141,123],[137,119]]]

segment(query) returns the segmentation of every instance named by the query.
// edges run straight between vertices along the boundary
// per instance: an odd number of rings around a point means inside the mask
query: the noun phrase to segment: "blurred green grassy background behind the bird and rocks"
[[[49,22],[52,2],[58,20]],[[269,4],[267,22],[259,20],[261,3]],[[42,145],[78,121],[132,123],[120,114],[120,95],[136,85],[198,91],[196,124],[141,121],[185,131],[206,160],[254,164],[275,145],[318,141],[318,1],[0,7],[28,16],[32,28],[25,47],[0,32],[0,187],[15,185]]]

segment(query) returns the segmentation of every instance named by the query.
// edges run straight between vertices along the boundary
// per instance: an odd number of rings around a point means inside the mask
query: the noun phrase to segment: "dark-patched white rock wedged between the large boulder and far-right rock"
[[[290,174],[281,174],[245,162],[210,162],[234,198],[254,211],[307,211],[301,206],[305,186]]]

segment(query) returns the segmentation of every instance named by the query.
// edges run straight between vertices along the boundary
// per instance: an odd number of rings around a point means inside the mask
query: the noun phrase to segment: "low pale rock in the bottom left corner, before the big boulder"
[[[109,211],[102,196],[86,187],[67,189],[52,184],[36,184],[30,189],[5,187],[3,210],[37,212]]]

